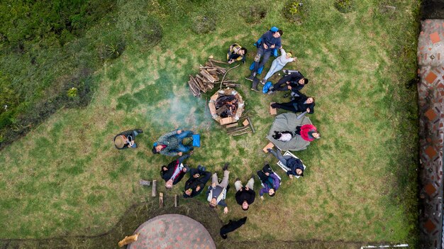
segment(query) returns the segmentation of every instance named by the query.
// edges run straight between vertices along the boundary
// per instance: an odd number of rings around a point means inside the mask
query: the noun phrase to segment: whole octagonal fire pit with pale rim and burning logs
[[[209,101],[211,117],[221,123],[221,126],[228,123],[235,123],[242,116],[244,109],[242,96],[231,88],[221,89]]]

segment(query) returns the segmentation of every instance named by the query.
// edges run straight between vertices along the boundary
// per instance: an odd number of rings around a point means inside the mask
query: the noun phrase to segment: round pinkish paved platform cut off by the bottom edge
[[[156,216],[140,225],[137,241],[129,249],[216,249],[213,238],[198,221],[181,214]]]

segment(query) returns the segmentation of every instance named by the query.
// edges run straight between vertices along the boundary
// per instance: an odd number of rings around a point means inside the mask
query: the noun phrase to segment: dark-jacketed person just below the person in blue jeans
[[[187,174],[187,170],[189,170],[189,167],[188,165],[184,165],[183,162],[189,156],[189,154],[182,155],[176,160],[170,162],[168,166],[162,166],[162,170],[160,170],[160,175],[162,175],[162,179],[165,180],[165,187],[167,189],[171,189],[172,185],[180,182],[184,175]]]

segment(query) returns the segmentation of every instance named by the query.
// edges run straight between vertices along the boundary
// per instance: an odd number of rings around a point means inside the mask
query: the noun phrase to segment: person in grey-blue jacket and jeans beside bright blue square
[[[192,138],[192,131],[175,130],[162,135],[152,146],[152,153],[160,153],[174,157],[174,155],[181,156],[182,153],[186,153],[189,150],[193,150],[192,145],[183,145],[182,140],[184,138]]]

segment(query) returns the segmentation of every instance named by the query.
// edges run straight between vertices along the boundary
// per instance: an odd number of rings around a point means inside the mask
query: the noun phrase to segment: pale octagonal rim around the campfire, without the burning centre
[[[238,111],[236,111],[235,116],[231,116],[231,117],[227,117],[227,118],[222,118],[221,116],[218,116],[218,114],[216,113],[216,99],[220,95],[234,95],[235,98],[238,99]],[[214,120],[218,121],[221,124],[221,126],[223,126],[228,123],[237,122],[239,120],[240,116],[242,116],[245,103],[242,99],[242,96],[240,96],[240,94],[237,91],[235,91],[235,89],[231,89],[228,87],[226,89],[218,90],[218,92],[213,94],[213,96],[211,96],[211,98],[210,98],[208,106],[210,109],[211,117]]]

